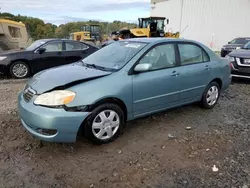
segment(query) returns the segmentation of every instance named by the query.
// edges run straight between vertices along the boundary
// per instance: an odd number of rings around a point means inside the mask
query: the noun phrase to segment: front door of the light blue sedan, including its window
[[[151,64],[147,72],[133,75],[135,117],[175,106],[179,99],[179,77],[174,44],[153,47],[139,61]]]

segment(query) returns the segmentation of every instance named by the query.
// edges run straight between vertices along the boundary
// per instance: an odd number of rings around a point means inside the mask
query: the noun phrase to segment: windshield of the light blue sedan
[[[118,70],[126,65],[146,45],[146,43],[140,42],[114,42],[83,59],[83,62]]]

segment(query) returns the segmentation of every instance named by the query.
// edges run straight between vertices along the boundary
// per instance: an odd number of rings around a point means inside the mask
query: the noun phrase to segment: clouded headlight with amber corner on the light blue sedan
[[[56,90],[39,95],[34,104],[49,107],[56,107],[69,104],[75,98],[76,94],[67,90]]]

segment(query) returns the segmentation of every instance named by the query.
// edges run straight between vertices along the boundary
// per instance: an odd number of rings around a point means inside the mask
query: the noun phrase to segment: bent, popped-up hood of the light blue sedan
[[[110,75],[112,72],[87,68],[81,63],[64,65],[37,73],[28,82],[37,94],[42,94],[56,88],[65,89],[81,82]]]

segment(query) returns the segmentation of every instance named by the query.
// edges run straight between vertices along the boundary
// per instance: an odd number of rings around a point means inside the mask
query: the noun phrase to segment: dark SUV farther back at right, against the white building
[[[250,37],[240,37],[228,42],[227,45],[224,45],[221,49],[221,57],[226,57],[229,53],[234,50],[241,49],[248,42],[250,42]]]

